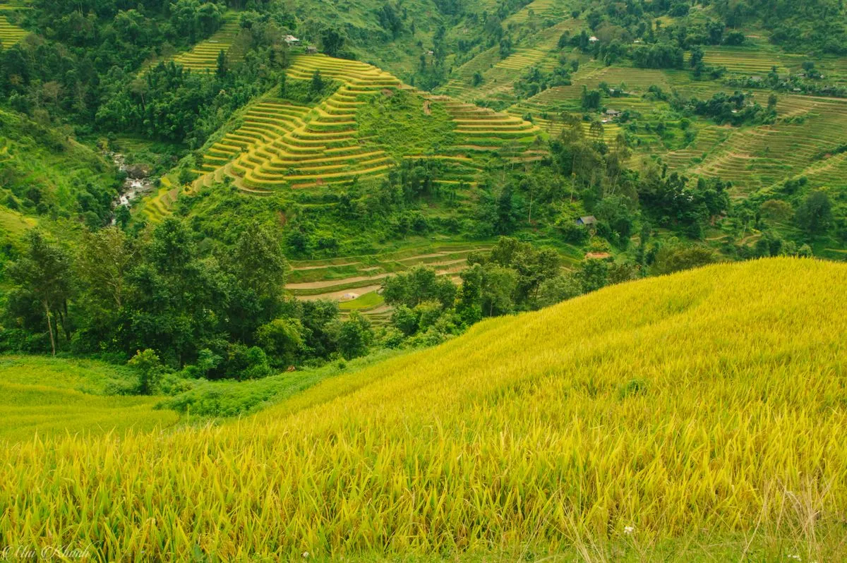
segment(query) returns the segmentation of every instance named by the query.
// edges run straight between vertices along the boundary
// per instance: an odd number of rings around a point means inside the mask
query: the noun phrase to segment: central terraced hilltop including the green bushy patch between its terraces
[[[340,86],[313,106],[263,97],[204,152],[195,185],[230,176],[241,190],[263,195],[349,184],[385,176],[402,158],[439,160],[451,168],[441,182],[470,184],[482,168],[476,154],[531,160],[543,153],[530,152],[540,131],[523,119],[413,91],[365,63],[298,54],[286,74],[305,82],[316,72]],[[418,146],[414,135],[424,137]]]

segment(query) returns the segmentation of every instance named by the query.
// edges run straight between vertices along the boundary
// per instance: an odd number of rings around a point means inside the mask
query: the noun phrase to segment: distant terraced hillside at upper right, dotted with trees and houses
[[[661,32],[669,38],[689,34],[679,40],[684,45],[682,64],[639,66],[632,58],[609,54],[645,49],[642,39],[634,40],[633,26],[620,27],[613,17],[593,23],[594,11],[578,9],[573,14],[579,16],[573,18],[570,6],[561,0],[529,3],[504,21],[514,37],[510,52],[490,47],[475,54],[453,69],[439,91],[531,119],[551,135],[567,129],[565,115],[588,116],[590,119],[584,119],[587,134],[610,145],[617,135],[625,135],[633,148],[629,161],[633,168],[642,168],[646,161],[667,164],[670,170],[690,177],[729,180],[735,196],[772,195],[786,180],[800,177],[808,179],[811,188],[843,187],[844,159],[839,156],[843,135],[839,131],[844,128],[847,99],[808,94],[843,91],[847,82],[844,58],[784,52],[768,41],[767,31],[752,19],[740,31],[735,30],[746,34],[742,46],[699,46],[691,39],[695,30],[721,14],[717,8],[697,6],[685,18],[663,18],[655,31],[650,30],[650,34]],[[728,35],[731,30],[722,33]],[[583,31],[595,36],[595,43],[574,48],[572,41],[579,40]],[[562,37],[567,40],[564,45]],[[695,73],[692,52],[696,49],[701,49],[706,69],[722,69],[719,76]],[[803,64],[809,61],[817,67],[819,78],[805,80]],[[570,66],[572,62],[577,63],[576,69]],[[532,75],[534,69],[541,79]],[[556,69],[567,69],[564,84],[551,78]],[[778,87],[768,83],[772,69],[782,80]],[[476,85],[474,73],[479,73]],[[584,87],[604,92],[598,110],[608,108],[625,115],[606,119],[601,111],[584,108]],[[656,88],[665,97],[650,91]],[[728,127],[678,111],[673,105],[677,97],[704,100],[720,92],[731,96],[735,91],[751,91],[752,100],[766,106],[772,90],[778,91],[774,123]],[[604,126],[589,130],[592,121]]]

